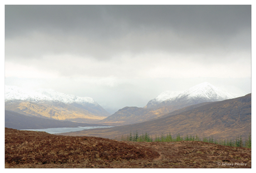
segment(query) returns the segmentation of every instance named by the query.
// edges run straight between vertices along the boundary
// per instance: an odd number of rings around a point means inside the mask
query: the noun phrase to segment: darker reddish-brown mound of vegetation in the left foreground
[[[35,164],[108,164],[113,161],[154,159],[159,154],[147,147],[94,137],[56,136],[44,132],[7,129],[6,167]]]

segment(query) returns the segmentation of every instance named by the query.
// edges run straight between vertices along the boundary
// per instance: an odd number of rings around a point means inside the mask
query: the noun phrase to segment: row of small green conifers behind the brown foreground
[[[242,136],[237,137],[235,140],[223,140],[223,139],[213,139],[213,137],[204,137],[203,140],[201,140],[199,138],[198,135],[192,136],[192,135],[186,135],[186,136],[180,136],[180,134],[176,135],[176,137],[173,138],[173,136],[171,136],[171,134],[169,133],[168,135],[164,135],[163,133],[161,134],[161,136],[155,136],[152,137],[149,134],[145,133],[145,134],[141,134],[139,135],[138,132],[136,131],[135,133],[131,133],[127,136],[122,135],[121,140],[125,140],[125,141],[136,141],[136,142],[152,142],[152,141],[159,141],[159,142],[173,142],[173,141],[203,141],[206,143],[213,143],[213,144],[219,144],[219,145],[225,145],[225,146],[237,146],[237,147],[248,147],[251,148],[252,147],[252,136],[248,135],[248,139],[246,139],[243,143],[242,140]]]

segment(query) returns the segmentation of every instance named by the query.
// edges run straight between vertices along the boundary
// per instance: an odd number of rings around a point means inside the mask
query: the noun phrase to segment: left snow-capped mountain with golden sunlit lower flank
[[[4,100],[6,110],[40,118],[79,119],[80,123],[92,123],[110,115],[92,98],[59,93],[52,89],[26,90],[5,86]]]

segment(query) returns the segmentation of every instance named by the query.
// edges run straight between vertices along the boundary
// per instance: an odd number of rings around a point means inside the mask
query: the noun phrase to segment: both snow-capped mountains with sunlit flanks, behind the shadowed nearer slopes
[[[25,90],[6,86],[5,109],[49,120],[121,126],[156,120],[169,113],[181,113],[213,101],[236,97],[209,83],[202,83],[185,91],[164,91],[144,108],[125,107],[110,115],[92,98],[59,93],[52,89]]]

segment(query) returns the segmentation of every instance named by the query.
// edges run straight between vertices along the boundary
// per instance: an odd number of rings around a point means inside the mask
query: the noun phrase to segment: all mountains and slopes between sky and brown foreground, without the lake
[[[125,107],[112,115],[92,98],[52,89],[6,86],[5,95],[6,128],[115,126],[62,134],[110,139],[136,131],[218,139],[245,139],[251,133],[251,94],[238,97],[206,82],[185,91],[164,91],[144,108]]]

